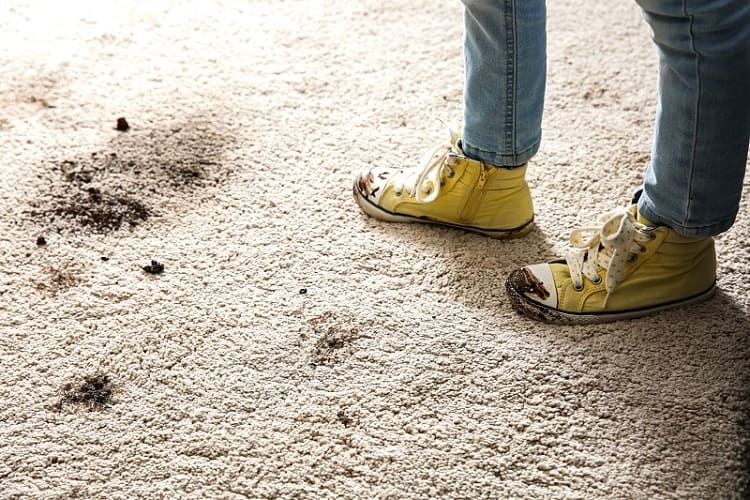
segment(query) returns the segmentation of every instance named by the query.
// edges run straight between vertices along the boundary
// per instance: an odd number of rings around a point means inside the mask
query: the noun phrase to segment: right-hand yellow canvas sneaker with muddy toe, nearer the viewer
[[[707,299],[715,289],[713,238],[655,227],[636,207],[611,212],[571,233],[565,260],[513,271],[511,305],[547,323],[635,318]]]

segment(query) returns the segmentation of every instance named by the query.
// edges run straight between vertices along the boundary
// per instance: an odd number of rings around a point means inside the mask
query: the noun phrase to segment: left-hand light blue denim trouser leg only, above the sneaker
[[[492,165],[522,165],[542,135],[545,0],[463,3],[463,151]]]

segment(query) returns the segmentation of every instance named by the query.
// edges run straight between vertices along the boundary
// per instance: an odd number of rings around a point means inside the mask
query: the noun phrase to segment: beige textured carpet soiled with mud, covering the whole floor
[[[648,30],[583,4],[549,2],[538,228],[498,242],[350,193],[460,118],[457,0],[3,2],[0,497],[747,496],[747,189],[708,303],[505,296],[649,158]]]

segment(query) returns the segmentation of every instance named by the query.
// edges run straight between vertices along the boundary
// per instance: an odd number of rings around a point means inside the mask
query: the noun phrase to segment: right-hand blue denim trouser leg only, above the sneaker
[[[638,209],[683,235],[721,233],[739,208],[750,141],[750,1],[637,1],[659,54]]]

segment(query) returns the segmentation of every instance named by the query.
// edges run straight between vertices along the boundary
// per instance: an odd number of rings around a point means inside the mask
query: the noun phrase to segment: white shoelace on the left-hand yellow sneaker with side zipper
[[[458,146],[460,135],[451,129],[450,142],[440,143],[422,156],[420,166],[405,169],[394,176],[393,187],[397,195],[406,190],[419,203],[430,203],[440,194],[444,177],[452,177],[455,166],[462,157]]]

